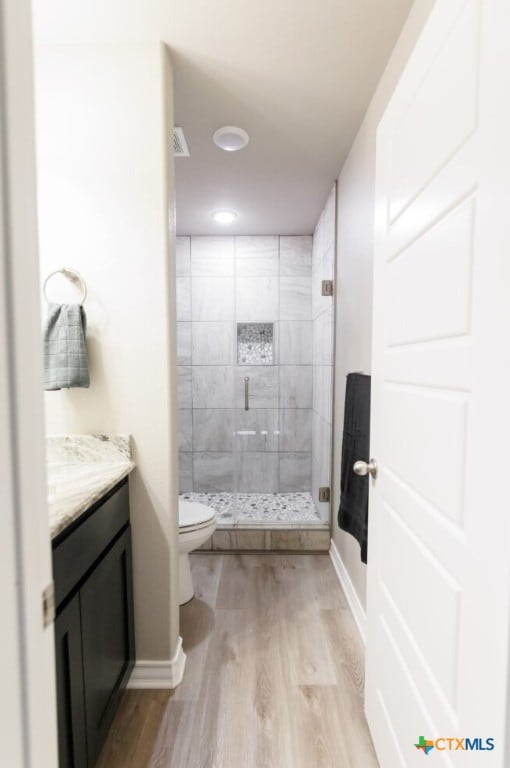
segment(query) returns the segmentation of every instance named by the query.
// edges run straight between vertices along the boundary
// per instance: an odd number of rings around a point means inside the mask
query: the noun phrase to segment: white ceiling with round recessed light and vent
[[[38,40],[163,39],[174,67],[181,234],[307,234],[412,0],[33,0]],[[221,125],[248,147],[223,152]],[[233,225],[211,213],[238,213]]]

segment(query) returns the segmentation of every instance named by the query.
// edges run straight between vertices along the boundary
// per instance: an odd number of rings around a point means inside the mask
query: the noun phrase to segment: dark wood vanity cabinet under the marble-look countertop
[[[53,542],[59,768],[93,768],[135,659],[127,481]]]

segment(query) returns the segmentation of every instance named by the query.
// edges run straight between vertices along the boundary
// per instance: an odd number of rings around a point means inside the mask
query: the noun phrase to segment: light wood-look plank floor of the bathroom
[[[192,555],[173,692],[127,691],[97,768],[377,768],[327,555]]]

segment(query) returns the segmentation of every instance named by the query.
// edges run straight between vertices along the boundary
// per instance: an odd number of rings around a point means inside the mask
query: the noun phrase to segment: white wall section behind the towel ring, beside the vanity
[[[172,87],[159,43],[36,51],[41,274],[85,278],[88,390],[46,393],[49,433],[130,433],[139,659],[178,640]]]

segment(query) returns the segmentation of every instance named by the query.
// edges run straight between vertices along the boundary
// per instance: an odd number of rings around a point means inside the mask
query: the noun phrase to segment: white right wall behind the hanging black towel
[[[377,126],[433,5],[434,0],[415,0],[338,178],[333,538],[363,606],[366,566],[360,560],[357,541],[341,531],[336,522],[345,376],[352,371],[371,372]]]

